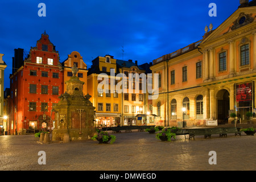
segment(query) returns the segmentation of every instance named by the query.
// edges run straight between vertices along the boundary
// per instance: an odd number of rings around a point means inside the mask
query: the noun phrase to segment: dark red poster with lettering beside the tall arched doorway
[[[237,88],[236,88],[237,102],[251,101],[252,92],[253,92],[253,90],[252,90],[251,82],[237,85]]]

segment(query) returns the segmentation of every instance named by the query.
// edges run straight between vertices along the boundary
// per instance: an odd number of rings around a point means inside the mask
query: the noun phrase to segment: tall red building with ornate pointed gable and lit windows
[[[63,70],[59,53],[44,32],[23,60],[23,49],[15,49],[10,75],[9,134],[53,126],[53,106],[63,94]]]

